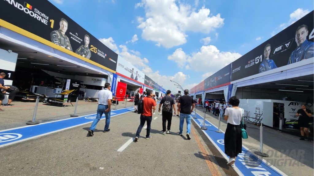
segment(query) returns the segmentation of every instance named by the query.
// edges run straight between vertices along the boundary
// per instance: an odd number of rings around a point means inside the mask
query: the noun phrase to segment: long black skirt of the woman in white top
[[[228,123],[225,132],[225,153],[234,158],[242,153],[242,136],[240,125]]]

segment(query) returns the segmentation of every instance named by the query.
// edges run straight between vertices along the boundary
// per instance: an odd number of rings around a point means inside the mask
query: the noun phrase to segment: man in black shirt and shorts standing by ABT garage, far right
[[[304,132],[307,136],[307,141],[311,141],[309,138],[309,131],[308,131],[308,127],[309,127],[309,121],[310,121],[310,117],[312,116],[311,114],[311,110],[306,109],[305,104],[301,105],[301,109],[299,109],[297,111],[297,113],[295,114],[296,116],[299,116],[299,126],[300,126],[300,130],[301,130],[301,138],[300,140],[304,141]]]

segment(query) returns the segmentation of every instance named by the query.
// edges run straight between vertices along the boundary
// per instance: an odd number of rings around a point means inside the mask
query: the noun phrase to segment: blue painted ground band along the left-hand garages
[[[131,112],[134,110],[134,108],[132,110],[130,109],[131,108],[128,107],[111,111],[111,117]],[[22,142],[25,140],[44,136],[54,132],[62,131],[68,128],[84,125],[93,122],[95,118],[96,114],[90,114],[86,116],[68,118],[53,122],[40,123],[38,125],[33,126],[24,126],[3,130],[0,131],[0,148],[17,142]],[[105,119],[105,115],[101,117],[101,120],[102,119]]]

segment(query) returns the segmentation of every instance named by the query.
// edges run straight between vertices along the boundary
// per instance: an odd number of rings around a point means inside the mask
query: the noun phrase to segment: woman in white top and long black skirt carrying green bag
[[[239,106],[240,100],[236,96],[229,99],[232,107],[226,108],[225,120],[228,122],[225,132],[225,153],[230,157],[227,165],[236,167],[236,157],[242,152],[242,136],[240,123],[244,115],[244,110]]]

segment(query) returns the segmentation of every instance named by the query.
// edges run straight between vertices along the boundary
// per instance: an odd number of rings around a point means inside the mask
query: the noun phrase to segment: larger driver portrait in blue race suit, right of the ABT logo
[[[314,43],[306,39],[308,34],[309,30],[305,24],[296,29],[295,43],[297,44],[297,48],[290,54],[288,64],[314,57]]]

